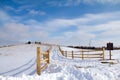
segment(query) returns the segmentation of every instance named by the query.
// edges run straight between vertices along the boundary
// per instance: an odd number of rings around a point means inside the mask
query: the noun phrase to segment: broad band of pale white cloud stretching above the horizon
[[[6,20],[11,20],[11,16],[2,12]],[[120,12],[85,14],[72,19],[55,18],[44,22],[31,19],[22,23],[22,20],[4,22],[0,27],[0,41],[40,40],[48,42],[58,42],[60,44],[71,43],[88,45],[92,39],[92,45],[105,44],[107,41],[120,42]],[[74,30],[73,30],[74,29]],[[114,38],[113,38],[114,37]]]

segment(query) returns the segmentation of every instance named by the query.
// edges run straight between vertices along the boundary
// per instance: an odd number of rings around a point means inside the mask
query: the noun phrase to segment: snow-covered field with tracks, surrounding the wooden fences
[[[115,64],[103,64],[103,60],[71,59],[61,55],[53,46],[51,61],[40,76],[36,74],[36,47],[22,44],[0,48],[0,80],[120,80],[120,51],[112,51]],[[43,51],[49,47],[40,46]],[[64,50],[76,50],[62,47]],[[105,58],[109,54],[105,52]],[[104,60],[106,61],[106,60]],[[108,61],[108,60],[107,60]]]

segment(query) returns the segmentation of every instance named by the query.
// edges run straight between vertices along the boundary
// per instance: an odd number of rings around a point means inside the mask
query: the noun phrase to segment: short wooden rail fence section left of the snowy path
[[[44,70],[50,63],[50,47],[47,51],[42,52],[40,47],[37,47],[37,74],[41,75],[42,70]]]

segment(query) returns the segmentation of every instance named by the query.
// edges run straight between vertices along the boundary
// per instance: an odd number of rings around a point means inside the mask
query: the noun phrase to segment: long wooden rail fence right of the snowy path
[[[84,60],[85,58],[101,58],[105,59],[105,48],[102,50],[85,50],[80,49],[80,51],[64,51],[59,47],[59,50],[63,56],[66,58],[82,58]]]

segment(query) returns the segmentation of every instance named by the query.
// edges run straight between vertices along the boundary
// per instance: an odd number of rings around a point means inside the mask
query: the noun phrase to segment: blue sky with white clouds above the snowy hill
[[[120,46],[120,0],[0,0],[0,44]]]

